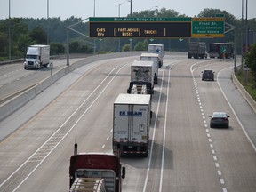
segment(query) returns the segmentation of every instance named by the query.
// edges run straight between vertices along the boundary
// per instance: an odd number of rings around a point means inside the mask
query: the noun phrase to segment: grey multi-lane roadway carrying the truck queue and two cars
[[[0,143],[0,191],[68,191],[75,142],[78,152],[110,152],[113,103],[128,88],[133,60],[139,55],[77,68],[0,122],[0,132],[13,129]],[[233,67],[233,60],[164,56],[148,157],[121,158],[124,192],[256,191],[256,115],[232,83]],[[202,81],[206,68],[214,82]],[[220,110],[229,129],[209,126]]]

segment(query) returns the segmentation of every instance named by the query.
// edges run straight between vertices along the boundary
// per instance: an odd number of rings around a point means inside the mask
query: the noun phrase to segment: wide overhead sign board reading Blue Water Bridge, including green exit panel
[[[90,37],[224,37],[224,18],[89,18]]]

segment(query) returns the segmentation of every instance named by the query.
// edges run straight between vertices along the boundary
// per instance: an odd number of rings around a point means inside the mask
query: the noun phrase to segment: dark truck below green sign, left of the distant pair
[[[206,44],[204,42],[189,42],[188,59],[207,58]]]

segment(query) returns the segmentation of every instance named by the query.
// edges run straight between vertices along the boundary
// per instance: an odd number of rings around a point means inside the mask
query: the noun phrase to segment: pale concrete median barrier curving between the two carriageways
[[[51,84],[54,84],[56,81],[58,81],[62,76],[65,76],[66,74],[75,70],[76,68],[80,68],[85,64],[97,60],[107,60],[128,56],[140,56],[141,53],[142,52],[116,52],[92,55],[90,57],[86,57],[84,60],[79,60],[76,63],[73,63],[69,66],[65,66],[64,68],[61,68],[57,72],[53,73],[52,76],[49,76],[45,78],[43,81],[41,81],[39,84],[36,84],[36,86],[28,89],[28,91],[22,92],[17,97],[13,98],[12,100],[8,100],[4,104],[2,104],[0,106],[0,121],[2,121],[6,116],[10,116],[15,110],[21,108],[23,105],[28,103],[29,100],[34,99],[36,95],[40,94],[40,92],[43,92]]]

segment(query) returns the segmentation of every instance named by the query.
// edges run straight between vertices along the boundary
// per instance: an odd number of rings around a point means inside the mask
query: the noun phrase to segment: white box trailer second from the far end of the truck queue
[[[159,68],[159,55],[156,53],[145,52],[141,53],[140,60],[152,60],[153,61],[153,72],[154,72],[154,84],[158,83],[158,68]]]

